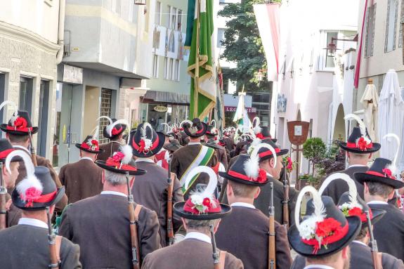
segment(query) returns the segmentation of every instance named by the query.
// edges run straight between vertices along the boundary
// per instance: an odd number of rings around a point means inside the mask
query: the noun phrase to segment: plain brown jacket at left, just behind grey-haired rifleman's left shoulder
[[[103,190],[103,169],[91,159],[81,159],[79,162],[66,164],[60,169],[60,182],[66,188],[69,203],[74,203],[88,197],[99,195]]]

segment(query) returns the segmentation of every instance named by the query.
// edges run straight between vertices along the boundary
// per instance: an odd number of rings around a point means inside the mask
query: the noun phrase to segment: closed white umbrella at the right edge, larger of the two
[[[394,159],[397,151],[396,143],[392,138],[384,138],[387,133],[395,133],[403,140],[404,100],[400,93],[400,84],[396,71],[389,70],[383,82],[383,88],[379,97],[379,138],[382,148],[380,157]],[[403,143],[401,143],[403,144]],[[400,160],[397,160],[400,163]]]

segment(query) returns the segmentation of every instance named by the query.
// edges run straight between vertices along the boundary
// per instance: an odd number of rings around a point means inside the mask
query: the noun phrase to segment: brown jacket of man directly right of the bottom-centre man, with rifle
[[[240,258],[246,269],[268,268],[269,219],[258,209],[232,206],[216,232],[217,247]],[[292,256],[285,228],[275,221],[276,268],[289,269]]]

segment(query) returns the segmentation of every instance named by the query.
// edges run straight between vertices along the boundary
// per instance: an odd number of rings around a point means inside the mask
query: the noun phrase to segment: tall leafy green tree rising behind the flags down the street
[[[226,5],[219,12],[219,15],[231,18],[226,23],[222,42],[225,50],[221,58],[237,63],[236,68],[223,70],[228,79],[237,81],[237,91],[241,91],[243,85],[249,92],[267,91],[271,86],[266,79],[260,82],[256,78],[260,69],[267,68],[253,8],[259,3],[262,0],[242,0],[239,4]]]

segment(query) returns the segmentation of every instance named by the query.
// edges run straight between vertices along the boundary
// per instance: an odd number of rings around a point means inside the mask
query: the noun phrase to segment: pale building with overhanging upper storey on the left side
[[[100,143],[107,119],[132,125],[142,79],[151,77],[152,3],[131,0],[67,0],[65,53],[58,66],[53,165],[79,158],[81,143],[100,125]]]

